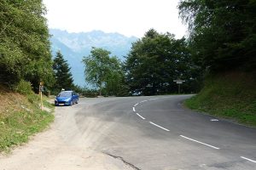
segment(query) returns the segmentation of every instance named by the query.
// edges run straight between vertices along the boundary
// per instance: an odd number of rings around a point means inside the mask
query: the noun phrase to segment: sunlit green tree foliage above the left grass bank
[[[38,88],[53,80],[49,32],[42,0],[0,0],[0,81],[24,79]]]

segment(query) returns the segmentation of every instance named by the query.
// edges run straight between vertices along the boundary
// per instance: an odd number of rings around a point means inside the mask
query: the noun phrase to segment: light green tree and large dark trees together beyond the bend
[[[99,95],[177,94],[175,80],[184,81],[182,94],[201,89],[201,68],[193,62],[185,38],[150,29],[132,44],[124,61],[110,54],[91,48],[83,59],[85,82],[98,89]]]

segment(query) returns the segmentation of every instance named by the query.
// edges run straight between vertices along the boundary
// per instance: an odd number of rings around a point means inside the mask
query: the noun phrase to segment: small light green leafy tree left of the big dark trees
[[[99,93],[117,95],[122,88],[123,71],[119,59],[110,57],[111,53],[103,48],[92,48],[90,55],[84,57],[85,81],[96,85]]]

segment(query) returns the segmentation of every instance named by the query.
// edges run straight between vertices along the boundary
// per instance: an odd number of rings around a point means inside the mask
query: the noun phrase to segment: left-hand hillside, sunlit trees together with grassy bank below
[[[34,94],[39,82],[49,88],[55,83],[44,14],[41,0],[0,0],[0,152],[54,120]]]

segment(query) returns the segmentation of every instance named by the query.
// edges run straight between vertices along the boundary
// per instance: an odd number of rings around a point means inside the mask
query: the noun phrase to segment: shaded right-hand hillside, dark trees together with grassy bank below
[[[190,108],[256,126],[256,1],[183,0],[189,47],[205,75]]]

